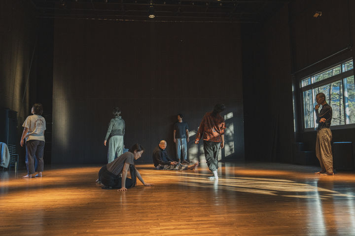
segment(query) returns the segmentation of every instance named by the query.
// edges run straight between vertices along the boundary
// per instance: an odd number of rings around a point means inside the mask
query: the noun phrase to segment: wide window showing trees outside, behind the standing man
[[[354,63],[347,60],[307,76],[300,83],[302,91],[304,129],[317,127],[314,110],[316,95],[325,94],[333,109],[332,126],[355,124]]]

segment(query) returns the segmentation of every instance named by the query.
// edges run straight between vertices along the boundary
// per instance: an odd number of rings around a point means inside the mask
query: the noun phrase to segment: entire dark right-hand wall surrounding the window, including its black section
[[[354,45],[354,10],[355,3],[348,0],[291,1],[265,23],[242,29],[246,159],[291,162],[294,141],[315,149],[316,132],[302,129],[299,81],[354,57],[354,51],[345,50],[323,60]],[[314,18],[316,11],[322,16]],[[333,141],[355,142],[354,132],[333,130]]]

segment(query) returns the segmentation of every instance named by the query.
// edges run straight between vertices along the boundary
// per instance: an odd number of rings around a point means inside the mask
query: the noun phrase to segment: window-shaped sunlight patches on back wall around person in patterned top
[[[229,112],[224,115],[224,120],[226,123],[226,129],[224,132],[224,148],[219,152],[219,161],[232,158],[235,153],[233,112]],[[190,160],[190,162],[205,162],[206,159],[202,138],[199,144],[195,144],[197,131],[198,127],[196,130],[191,130],[189,132],[190,142],[187,143],[187,158]]]

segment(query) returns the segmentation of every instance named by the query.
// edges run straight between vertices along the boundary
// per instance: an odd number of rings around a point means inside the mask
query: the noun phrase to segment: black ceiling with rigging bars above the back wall
[[[262,22],[290,0],[32,0],[38,17],[134,21]],[[155,18],[148,18],[149,6]]]

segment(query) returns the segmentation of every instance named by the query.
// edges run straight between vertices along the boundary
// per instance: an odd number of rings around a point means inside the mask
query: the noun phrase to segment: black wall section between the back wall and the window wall
[[[287,162],[293,137],[288,8],[264,24],[243,27],[247,160]]]

